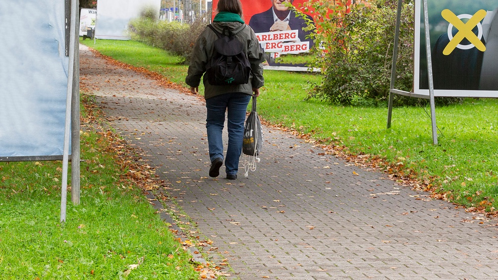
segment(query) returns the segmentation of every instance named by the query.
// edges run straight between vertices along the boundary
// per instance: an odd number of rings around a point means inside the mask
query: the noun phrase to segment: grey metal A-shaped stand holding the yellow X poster
[[[392,103],[393,94],[401,94],[412,97],[427,98],[426,96],[417,95],[414,93],[409,93],[401,90],[394,89],[394,82],[396,80],[396,60],[398,56],[398,43],[399,43],[399,25],[401,21],[401,7],[403,0],[398,0],[398,14],[396,18],[396,33],[394,35],[394,49],[392,54],[392,68],[391,68],[391,86],[389,90],[389,105],[387,111],[387,128],[391,127],[391,117],[392,117]],[[424,28],[425,28],[425,50],[427,53],[427,74],[429,78],[429,103],[431,107],[431,123],[432,123],[432,141],[437,145],[437,127],[436,127],[436,106],[434,101],[434,81],[432,77],[432,58],[430,49],[430,35],[429,35],[429,14],[427,12],[427,0],[422,1],[423,11],[424,11]]]

